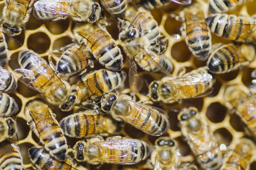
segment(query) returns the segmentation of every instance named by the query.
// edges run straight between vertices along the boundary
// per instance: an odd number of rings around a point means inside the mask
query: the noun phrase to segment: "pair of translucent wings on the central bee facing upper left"
[[[169,117],[168,114],[160,108],[156,108],[156,107],[150,106],[150,105],[145,105],[145,104],[142,104],[139,102],[135,102],[133,100],[127,100],[127,103],[131,108],[138,111],[137,113],[139,113],[141,117],[145,117],[145,118],[148,117],[149,112],[163,114],[167,117],[167,119]],[[122,118],[122,120],[127,123],[130,123],[131,125],[133,125],[134,127],[138,128],[138,129],[141,129],[140,125],[146,124],[148,128],[143,131],[150,135],[158,136],[158,135],[162,134],[161,130],[159,130],[159,132],[160,132],[159,134],[152,133],[155,130],[155,128],[158,126],[154,120],[151,120],[151,119],[141,120],[141,119],[137,119],[136,117],[133,117],[133,116],[125,116],[124,118]],[[136,123],[134,123],[134,122],[136,122]]]

